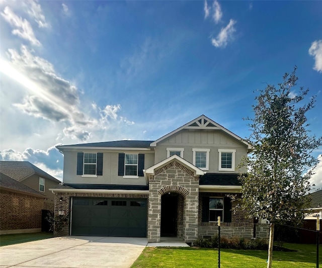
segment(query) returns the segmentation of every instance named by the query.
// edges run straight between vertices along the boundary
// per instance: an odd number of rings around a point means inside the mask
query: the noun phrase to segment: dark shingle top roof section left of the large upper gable
[[[72,145],[57,146],[63,148],[65,146],[72,147],[120,147],[120,148],[148,148],[152,140],[118,140],[118,141],[104,141],[92,143],[80,143]]]

